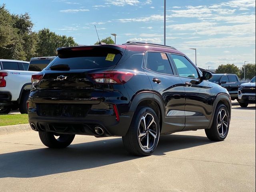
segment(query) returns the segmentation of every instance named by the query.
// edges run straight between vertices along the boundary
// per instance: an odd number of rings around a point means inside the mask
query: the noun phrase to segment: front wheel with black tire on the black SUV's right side
[[[219,114],[220,112],[221,116]],[[226,114],[226,116],[224,114]],[[205,129],[205,133],[208,139],[210,139],[211,141],[223,141],[227,137],[230,122],[229,116],[230,114],[228,112],[228,109],[224,104],[219,104],[216,107],[212,126],[210,129]]]

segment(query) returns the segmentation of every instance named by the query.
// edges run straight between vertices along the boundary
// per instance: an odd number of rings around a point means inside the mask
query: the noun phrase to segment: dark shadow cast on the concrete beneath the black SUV
[[[153,155],[210,144],[202,136],[161,136]],[[40,148],[0,154],[0,178],[32,178],[84,170],[136,158],[126,152],[121,138],[72,144],[64,149]]]

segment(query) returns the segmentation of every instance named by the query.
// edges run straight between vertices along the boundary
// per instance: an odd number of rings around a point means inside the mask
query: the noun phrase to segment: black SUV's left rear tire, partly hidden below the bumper
[[[74,134],[56,134],[53,132],[38,132],[42,143],[49,148],[65,148],[74,140]],[[55,138],[55,136],[59,136]]]

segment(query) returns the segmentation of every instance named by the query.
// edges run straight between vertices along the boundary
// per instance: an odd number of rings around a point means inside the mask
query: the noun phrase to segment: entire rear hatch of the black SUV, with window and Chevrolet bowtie
[[[59,48],[58,56],[43,70],[31,101],[41,109],[62,111],[99,104],[104,85],[92,80],[91,74],[112,70],[124,51],[114,45]]]

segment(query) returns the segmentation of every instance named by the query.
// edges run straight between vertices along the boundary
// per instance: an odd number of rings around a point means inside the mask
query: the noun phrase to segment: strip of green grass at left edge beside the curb
[[[28,114],[0,115],[0,126],[28,123]]]

